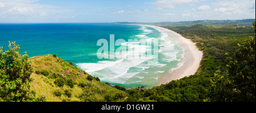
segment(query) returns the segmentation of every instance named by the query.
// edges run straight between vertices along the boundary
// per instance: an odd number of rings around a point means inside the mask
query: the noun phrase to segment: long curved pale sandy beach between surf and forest
[[[166,84],[172,80],[181,79],[185,76],[194,75],[200,66],[201,59],[203,57],[203,52],[197,49],[195,43],[191,40],[184,38],[180,34],[171,31],[170,29],[157,27],[154,25],[146,25],[148,27],[159,29],[160,31],[167,32],[168,35],[175,36],[175,40],[179,42],[180,46],[184,48],[184,64],[180,68],[174,71],[169,71],[164,73],[162,76],[158,77],[158,85]]]

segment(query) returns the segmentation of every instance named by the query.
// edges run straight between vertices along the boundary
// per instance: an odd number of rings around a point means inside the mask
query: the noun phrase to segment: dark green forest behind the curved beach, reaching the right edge
[[[204,53],[201,65],[195,75],[148,90],[126,90],[126,101],[255,102],[255,20],[253,25],[163,25],[196,42]]]

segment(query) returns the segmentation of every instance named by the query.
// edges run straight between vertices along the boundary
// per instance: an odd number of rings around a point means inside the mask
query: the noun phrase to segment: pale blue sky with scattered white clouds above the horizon
[[[0,23],[255,19],[255,0],[0,0]]]

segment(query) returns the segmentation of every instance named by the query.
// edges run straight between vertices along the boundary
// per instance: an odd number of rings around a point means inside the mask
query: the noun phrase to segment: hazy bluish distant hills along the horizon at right
[[[159,23],[137,23],[137,22],[117,22],[116,24],[151,24],[151,25],[251,25],[255,19],[243,19],[243,20],[195,20],[195,21],[179,21],[179,22],[159,22]]]

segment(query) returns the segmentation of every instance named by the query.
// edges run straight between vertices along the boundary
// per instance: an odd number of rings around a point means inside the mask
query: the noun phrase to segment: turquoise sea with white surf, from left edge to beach
[[[158,39],[158,62],[148,64],[146,59],[98,59],[97,41],[104,38],[115,40]],[[56,54],[67,62],[73,62],[102,82],[118,84],[126,88],[152,87],[164,72],[183,64],[184,49],[171,34],[143,25],[120,25],[112,23],[53,23],[53,24],[0,24],[0,46],[7,50],[9,42],[20,45],[20,53],[32,56]],[[139,42],[138,42],[139,43]],[[133,43],[133,50],[139,44]],[[122,44],[121,44],[122,45]],[[120,46],[115,46],[117,50]],[[147,46],[148,47],[148,46]],[[142,50],[143,51],[143,50]],[[144,50],[146,52],[146,50]],[[127,54],[131,52],[127,49]]]

